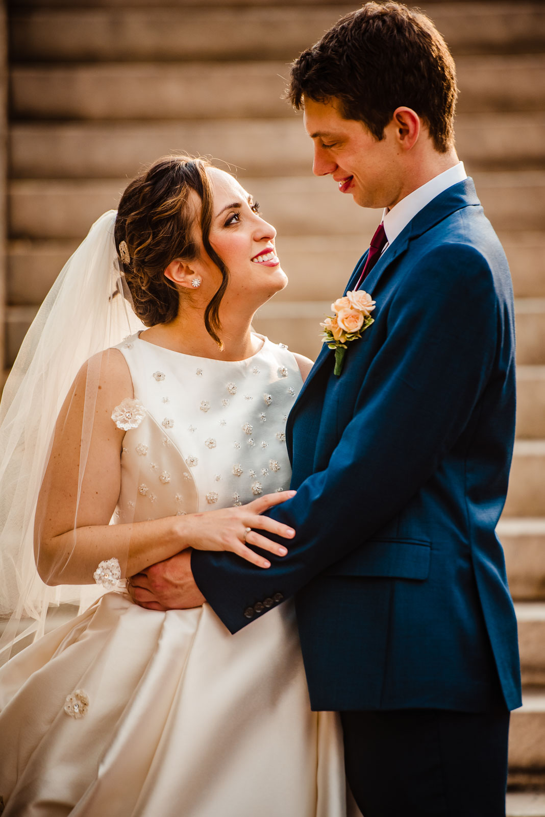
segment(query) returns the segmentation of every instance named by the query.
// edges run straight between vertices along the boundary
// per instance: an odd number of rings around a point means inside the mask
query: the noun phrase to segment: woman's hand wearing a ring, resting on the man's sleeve
[[[270,567],[271,563],[246,547],[246,542],[276,556],[286,556],[286,547],[258,534],[255,528],[286,539],[293,538],[295,536],[293,528],[269,519],[268,516],[260,515],[273,505],[279,505],[286,502],[286,499],[295,497],[295,493],[295,491],[266,493],[263,497],[240,507],[219,508],[217,511],[183,516],[184,521],[181,524],[184,526],[182,534],[184,544],[199,551],[231,551],[252,565]]]

